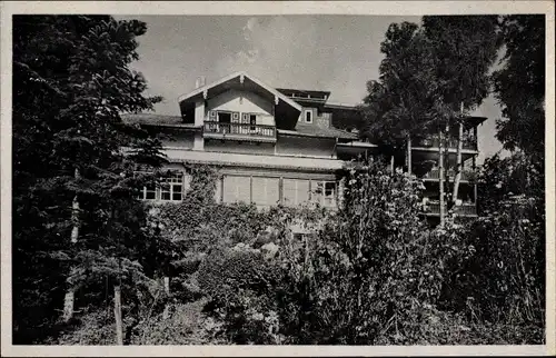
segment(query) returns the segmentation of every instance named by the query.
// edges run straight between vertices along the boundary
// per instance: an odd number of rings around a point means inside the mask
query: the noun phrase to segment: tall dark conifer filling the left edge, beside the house
[[[105,282],[145,277],[155,236],[136,197],[155,179],[133,171],[163,158],[120,113],[160,100],[128,68],[146,30],[107,16],[13,17],[16,342],[48,334],[64,290],[88,286],[87,305]]]

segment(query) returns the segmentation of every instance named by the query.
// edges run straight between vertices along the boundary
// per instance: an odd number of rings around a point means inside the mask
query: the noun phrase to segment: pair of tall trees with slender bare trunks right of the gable
[[[448,208],[457,198],[461,171],[461,126],[467,110],[480,105],[488,93],[488,69],[496,59],[496,17],[425,17],[423,27],[390,24],[381,52],[379,81],[368,83],[365,98],[365,135],[378,143],[394,143],[394,151],[410,140],[439,132],[440,188],[448,185],[447,141],[450,128],[458,128],[456,179]],[[443,190],[440,190],[443,191]],[[440,192],[440,201],[444,192]],[[444,208],[443,205],[440,205]],[[440,213],[441,221],[444,219]]]

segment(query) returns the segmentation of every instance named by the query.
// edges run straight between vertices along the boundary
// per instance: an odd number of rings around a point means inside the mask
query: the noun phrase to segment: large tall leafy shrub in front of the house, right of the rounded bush
[[[280,325],[292,344],[368,345],[409,337],[460,253],[457,226],[430,231],[420,182],[369,162],[346,176],[344,208],[305,242],[282,242]],[[297,243],[297,245],[296,245]]]

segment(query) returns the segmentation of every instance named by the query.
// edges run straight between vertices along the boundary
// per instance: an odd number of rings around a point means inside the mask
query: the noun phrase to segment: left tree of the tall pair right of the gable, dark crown
[[[379,80],[367,83],[363,135],[395,150],[404,147],[409,135],[427,135],[431,103],[424,93],[430,56],[423,31],[410,22],[391,23],[380,52],[386,57]]]

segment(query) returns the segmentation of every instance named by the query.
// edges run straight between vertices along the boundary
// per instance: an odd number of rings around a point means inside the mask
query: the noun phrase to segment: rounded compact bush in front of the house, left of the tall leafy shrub
[[[212,251],[199,268],[199,286],[210,297],[207,311],[224,322],[236,344],[272,344],[277,330],[275,288],[279,270],[260,250],[238,245]]]

